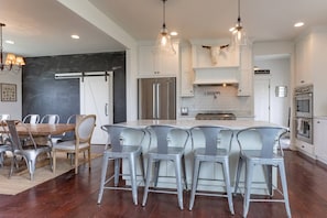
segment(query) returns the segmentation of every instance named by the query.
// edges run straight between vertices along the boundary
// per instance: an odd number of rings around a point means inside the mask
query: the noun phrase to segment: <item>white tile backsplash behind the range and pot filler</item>
[[[195,86],[194,97],[182,98],[182,107],[188,108],[188,117],[198,112],[225,111],[238,117],[249,117],[252,111],[251,97],[238,97],[237,86]]]

